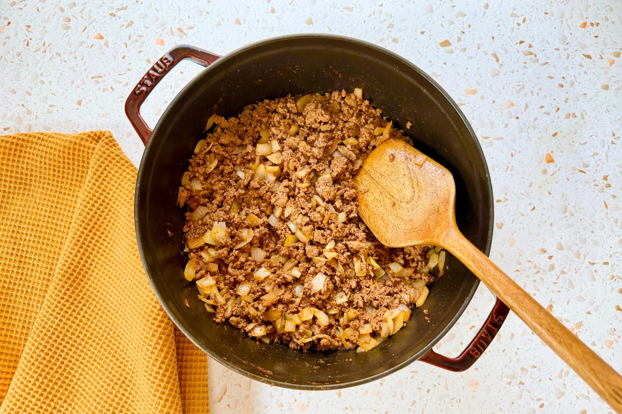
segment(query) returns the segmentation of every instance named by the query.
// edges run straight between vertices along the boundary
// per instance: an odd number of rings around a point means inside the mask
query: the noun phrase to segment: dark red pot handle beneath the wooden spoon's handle
[[[481,326],[480,331],[475,339],[462,351],[462,354],[455,358],[449,358],[441,354],[437,354],[430,349],[419,361],[427,362],[436,367],[444,368],[453,372],[462,372],[469,369],[475,361],[486,351],[496,336],[499,328],[508,317],[509,308],[499,298],[494,303],[493,310]]]

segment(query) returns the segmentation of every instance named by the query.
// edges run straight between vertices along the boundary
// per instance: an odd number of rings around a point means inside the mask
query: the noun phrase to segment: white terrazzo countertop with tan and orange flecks
[[[138,163],[142,144],[123,104],[175,44],[225,54],[276,35],[326,32],[381,45],[434,76],[480,138],[496,199],[492,259],[622,371],[620,0],[164,3],[1,0],[0,134],[109,129]],[[160,83],[143,108],[150,125],[200,70],[182,63]],[[437,351],[457,355],[492,303],[480,287]],[[460,374],[415,362],[371,384],[300,392],[211,361],[210,407],[213,414],[611,412],[514,315]]]

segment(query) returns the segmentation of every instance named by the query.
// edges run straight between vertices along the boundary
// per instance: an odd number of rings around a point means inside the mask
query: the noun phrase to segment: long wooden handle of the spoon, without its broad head
[[[468,267],[564,362],[622,414],[622,377],[534,298],[504,274],[457,228],[450,228],[440,243]]]

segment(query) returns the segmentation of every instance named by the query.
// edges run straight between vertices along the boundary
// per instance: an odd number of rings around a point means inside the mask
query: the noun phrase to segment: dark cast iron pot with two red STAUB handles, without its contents
[[[177,94],[151,131],[139,114],[140,106],[162,76],[185,58],[208,68]],[[284,344],[254,341],[227,323],[216,324],[197,299],[195,284],[183,277],[184,216],[175,201],[208,117],[213,113],[235,116],[262,99],[355,87],[363,88],[364,98],[381,108],[395,127],[404,129],[417,149],[453,173],[460,231],[488,254],[493,195],[475,133],[457,104],[430,76],[388,50],[333,35],[267,39],[225,57],[180,45],[147,71],[126,101],[126,114],[146,144],[134,214],[138,247],[154,292],[174,323],[200,349],[230,369],[267,384],[337,389],[379,379],[417,359],[465,370],[481,356],[508,315],[508,308],[498,300],[460,356],[450,359],[432,351],[462,315],[479,283],[453,257],[447,261],[449,270],[430,285],[424,306],[429,313],[417,308],[406,329],[367,353],[300,352]]]

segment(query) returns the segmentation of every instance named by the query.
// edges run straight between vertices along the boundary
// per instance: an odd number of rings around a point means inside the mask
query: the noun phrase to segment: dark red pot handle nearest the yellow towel
[[[201,66],[208,67],[211,63],[216,62],[220,58],[219,55],[208,52],[207,50],[200,49],[198,47],[190,45],[177,45],[164,56],[154,63],[154,65],[142,76],[141,80],[136,84],[132,93],[129,94],[128,99],[125,101],[125,114],[129,118],[136,133],[141,137],[142,143],[147,145],[151,133],[153,130],[149,128],[147,123],[141,116],[141,105],[144,103],[149,93],[153,90],[154,86],[158,84],[160,79],[164,78],[164,75],[184,59],[190,59],[192,62],[198,63]]]

